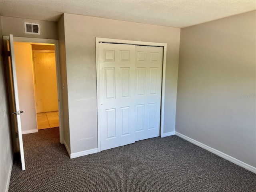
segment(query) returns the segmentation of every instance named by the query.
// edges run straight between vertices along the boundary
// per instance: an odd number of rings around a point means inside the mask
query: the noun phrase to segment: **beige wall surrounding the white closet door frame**
[[[95,37],[167,43],[164,132],[174,131],[179,28],[74,14],[64,14],[64,28],[72,153],[97,148]]]

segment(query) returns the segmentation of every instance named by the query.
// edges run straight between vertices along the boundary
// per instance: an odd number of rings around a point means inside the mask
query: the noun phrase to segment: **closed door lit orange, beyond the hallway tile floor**
[[[55,53],[33,51],[36,112],[58,111]]]

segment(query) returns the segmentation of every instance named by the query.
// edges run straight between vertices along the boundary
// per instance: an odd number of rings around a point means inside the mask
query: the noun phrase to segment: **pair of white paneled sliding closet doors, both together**
[[[160,135],[163,48],[99,44],[101,150]]]

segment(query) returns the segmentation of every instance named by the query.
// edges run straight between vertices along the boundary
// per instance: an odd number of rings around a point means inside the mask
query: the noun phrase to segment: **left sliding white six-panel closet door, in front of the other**
[[[135,142],[135,45],[99,44],[101,150]]]

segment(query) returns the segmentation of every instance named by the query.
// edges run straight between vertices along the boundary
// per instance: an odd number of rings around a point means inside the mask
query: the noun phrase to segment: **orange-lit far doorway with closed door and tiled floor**
[[[54,46],[32,44],[37,128],[59,126]]]

